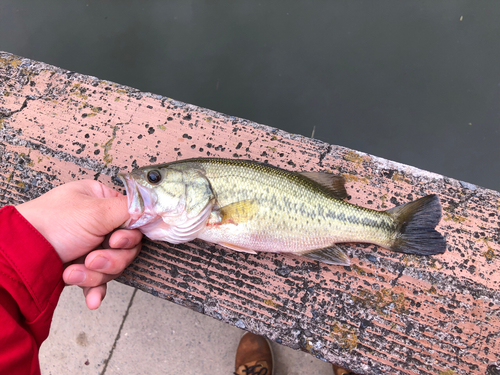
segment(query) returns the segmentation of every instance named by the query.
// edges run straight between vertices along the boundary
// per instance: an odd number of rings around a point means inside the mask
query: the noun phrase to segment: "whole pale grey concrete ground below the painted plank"
[[[65,288],[40,350],[43,375],[232,374],[244,331],[112,282],[90,311],[80,288]],[[275,375],[331,375],[332,366],[272,343]],[[106,365],[106,361],[109,361]]]

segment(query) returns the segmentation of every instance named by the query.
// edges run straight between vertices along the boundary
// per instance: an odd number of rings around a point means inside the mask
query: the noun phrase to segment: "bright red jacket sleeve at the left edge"
[[[40,374],[38,349],[49,335],[64,288],[52,245],[13,206],[0,209],[0,372]]]

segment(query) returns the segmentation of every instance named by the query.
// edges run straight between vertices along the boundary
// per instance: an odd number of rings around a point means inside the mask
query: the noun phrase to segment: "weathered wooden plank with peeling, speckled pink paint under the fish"
[[[485,374],[500,355],[500,193],[161,96],[0,54],[0,201],[180,158],[344,175],[350,202],[440,196],[440,256],[346,246],[351,267],[146,242],[121,281],[359,374]],[[119,187],[117,187],[119,189]]]

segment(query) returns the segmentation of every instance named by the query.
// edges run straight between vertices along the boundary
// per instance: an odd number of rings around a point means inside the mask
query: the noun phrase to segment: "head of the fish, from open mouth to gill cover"
[[[196,238],[215,202],[202,170],[179,165],[143,167],[118,177],[127,191],[130,218],[122,225],[171,243]]]

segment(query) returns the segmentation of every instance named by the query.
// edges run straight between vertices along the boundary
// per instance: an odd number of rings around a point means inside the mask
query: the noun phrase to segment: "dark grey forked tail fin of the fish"
[[[433,255],[446,251],[444,237],[434,228],[441,220],[441,204],[435,194],[386,211],[396,222],[398,234],[391,250]]]

